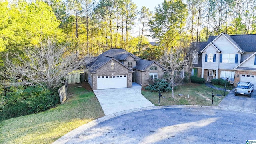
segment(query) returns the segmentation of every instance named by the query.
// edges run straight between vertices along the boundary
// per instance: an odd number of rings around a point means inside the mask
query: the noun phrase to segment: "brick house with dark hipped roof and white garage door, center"
[[[164,68],[154,60],[141,59],[122,48],[112,48],[90,63],[88,83],[92,90],[142,86],[164,75]]]

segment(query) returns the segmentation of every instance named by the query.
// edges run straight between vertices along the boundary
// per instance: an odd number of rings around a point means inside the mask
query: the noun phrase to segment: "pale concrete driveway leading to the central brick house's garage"
[[[94,90],[105,115],[124,110],[154,106],[141,94],[141,86],[132,83],[132,88]]]

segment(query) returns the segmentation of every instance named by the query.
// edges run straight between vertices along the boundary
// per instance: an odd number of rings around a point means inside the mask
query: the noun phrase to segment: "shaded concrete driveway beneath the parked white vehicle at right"
[[[256,112],[256,90],[252,92],[252,97],[243,95],[234,95],[235,90],[231,90],[229,94],[218,104],[218,107],[228,110],[240,110],[244,112]]]

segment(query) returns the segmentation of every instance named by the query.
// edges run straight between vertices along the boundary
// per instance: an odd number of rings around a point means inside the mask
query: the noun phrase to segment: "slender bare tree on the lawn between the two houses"
[[[165,51],[160,58],[160,64],[167,70],[165,78],[169,81],[170,86],[172,87],[172,97],[174,98],[174,87],[180,85],[182,82],[180,74],[184,64],[182,49],[177,48]]]

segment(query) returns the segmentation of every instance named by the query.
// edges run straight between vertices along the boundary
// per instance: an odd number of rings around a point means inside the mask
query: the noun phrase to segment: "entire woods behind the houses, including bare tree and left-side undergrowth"
[[[256,0],[164,0],[154,12],[132,0],[0,0],[0,120],[55,106],[64,76],[110,48],[150,60],[179,52],[177,62],[221,32],[256,34]]]

